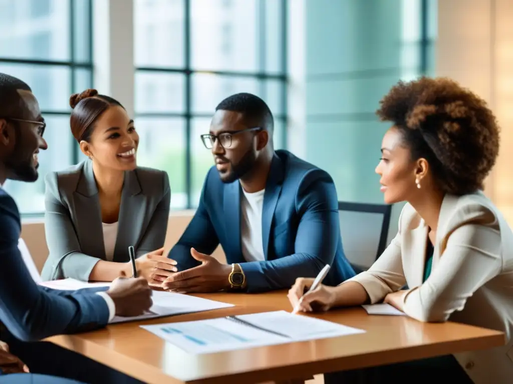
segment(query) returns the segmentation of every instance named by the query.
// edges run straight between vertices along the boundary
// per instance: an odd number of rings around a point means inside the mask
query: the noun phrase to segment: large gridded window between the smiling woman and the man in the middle
[[[250,92],[286,143],[286,0],[134,0],[140,165],[165,169],[172,208],[198,204],[213,164],[200,140],[216,104]]]

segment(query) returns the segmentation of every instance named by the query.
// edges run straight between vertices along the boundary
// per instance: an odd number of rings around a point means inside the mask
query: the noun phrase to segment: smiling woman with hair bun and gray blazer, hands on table
[[[136,269],[160,285],[176,263],[162,253],[171,191],[161,170],[137,167],[139,135],[120,102],[96,90],[70,98],[71,133],[88,159],[46,177],[45,280],[112,281]]]

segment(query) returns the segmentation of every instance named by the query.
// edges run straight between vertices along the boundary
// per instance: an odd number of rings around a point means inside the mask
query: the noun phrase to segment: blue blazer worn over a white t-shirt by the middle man
[[[314,278],[326,264],[327,285],[354,276],[342,249],[337,191],[324,170],[288,151],[275,152],[262,212],[265,261],[245,262],[240,195],[239,181],[223,183],[215,166],[210,168],[198,209],[168,254],[180,270],[199,264],[191,247],[210,254],[221,243],[228,264],[241,264],[248,292],[289,288],[299,277]]]

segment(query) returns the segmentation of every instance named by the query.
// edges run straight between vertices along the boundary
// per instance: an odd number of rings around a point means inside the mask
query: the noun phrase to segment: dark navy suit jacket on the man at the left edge
[[[97,290],[57,291],[34,283],[18,250],[20,232],[16,203],[0,188],[0,322],[26,341],[107,325],[109,308]]]

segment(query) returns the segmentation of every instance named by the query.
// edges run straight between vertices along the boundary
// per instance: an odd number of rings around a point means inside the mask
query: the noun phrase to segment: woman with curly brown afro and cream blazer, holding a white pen
[[[482,192],[499,151],[494,115],[455,81],[425,77],[392,87],[377,114],[392,124],[376,168],[384,200],[407,202],[399,232],[368,271],[338,287],[303,296],[312,281],[298,279],[291,304],[308,312],[385,302],[421,322],[451,320],[511,335],[513,233]],[[327,374],[325,382],[384,382],[399,373],[408,380],[450,375],[459,384],[509,383],[513,344]]]

